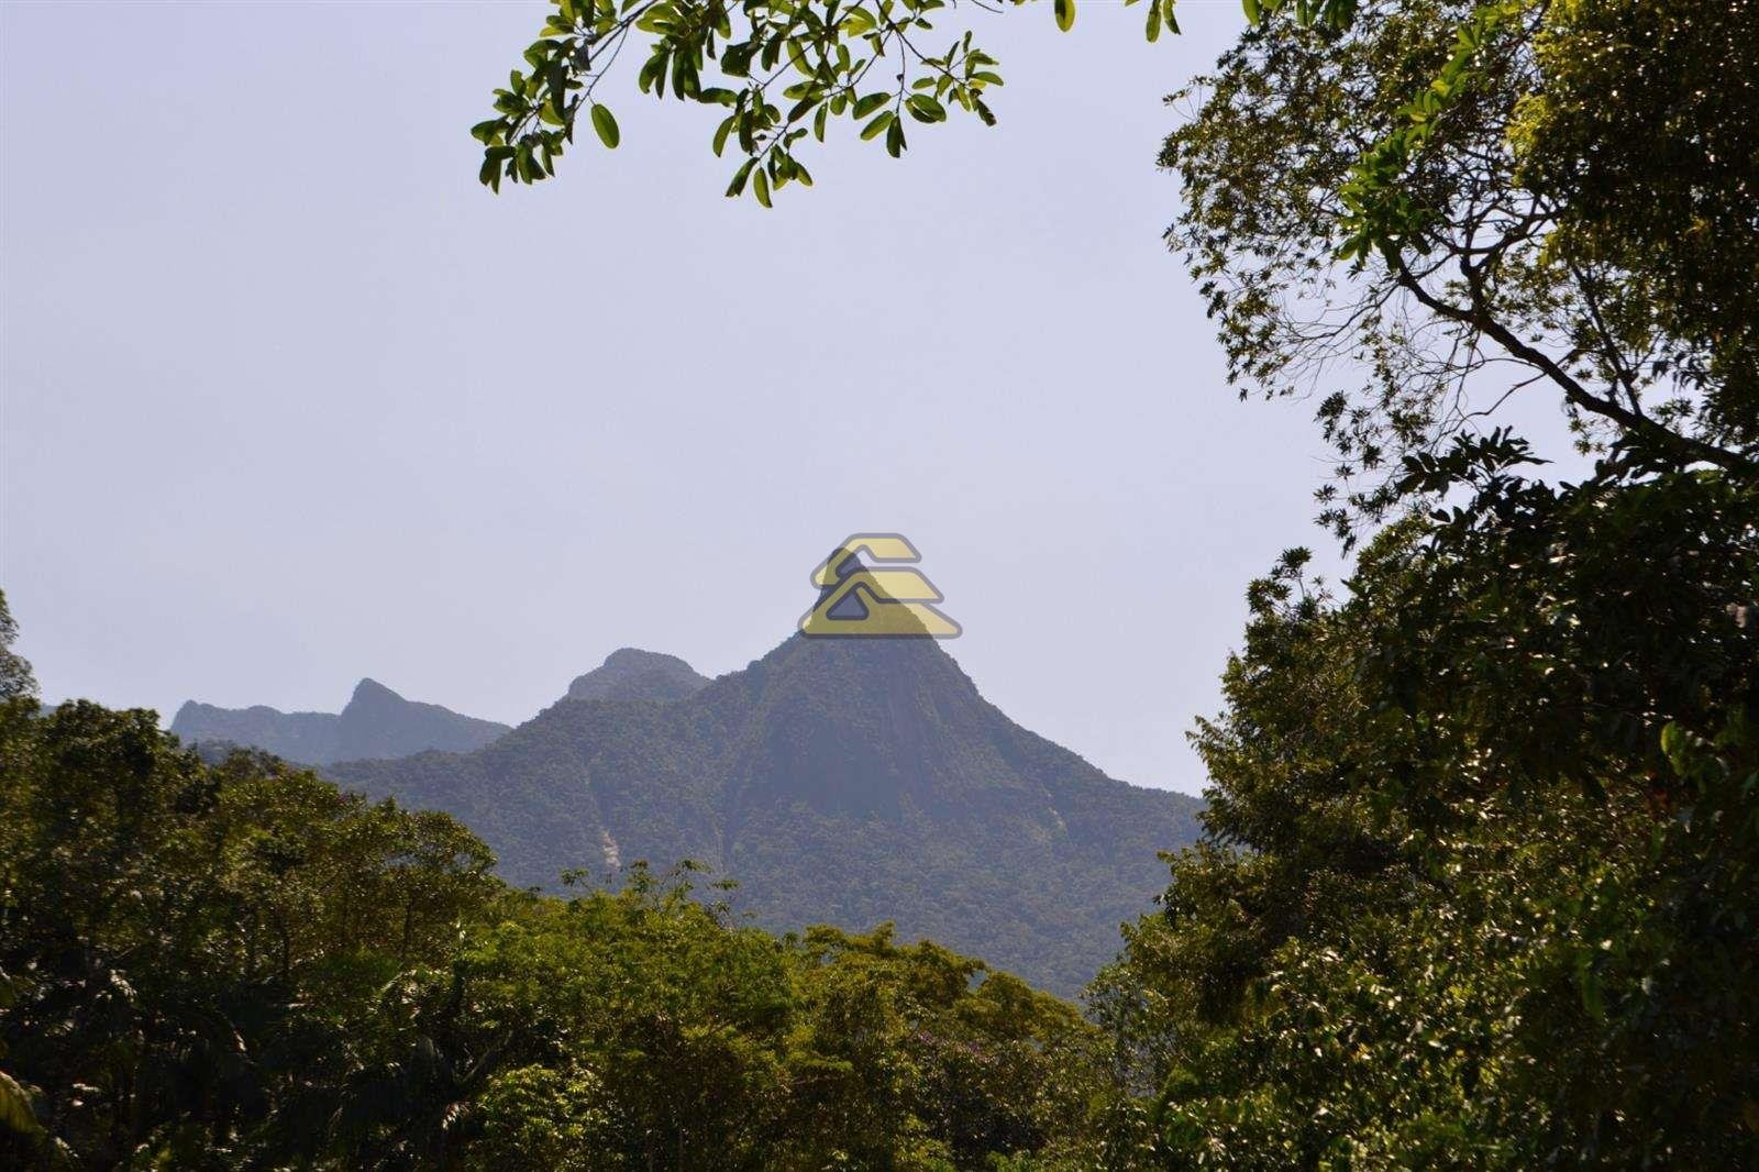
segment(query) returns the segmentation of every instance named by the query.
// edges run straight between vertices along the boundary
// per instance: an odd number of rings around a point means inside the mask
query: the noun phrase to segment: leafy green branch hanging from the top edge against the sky
[[[967,0],[1001,12],[1027,0]],[[1124,0],[1126,5],[1138,0]],[[946,121],[950,107],[996,125],[990,92],[1003,84],[999,62],[971,42],[971,32],[936,32],[938,12],[959,0],[554,0],[556,11],[524,53],[507,88],[494,92],[496,116],[471,127],[484,144],[480,178],[535,183],[556,174],[584,116],[607,148],[621,141],[600,86],[626,48],[644,44],[635,83],[663,100],[714,107],[712,148],[735,158],[728,195],[748,188],[765,208],[770,192],[813,185],[800,160],[807,134],[823,143],[832,120],[860,125],[862,139],[881,139],[894,158],[908,146],[906,125]],[[1296,0],[1302,21],[1342,25],[1356,0]],[[1245,0],[1258,19],[1281,0]],[[1179,32],[1175,0],[1149,0],[1145,35]],[[1261,11],[1263,9],[1263,11]],[[1057,26],[1075,25],[1075,0],[1052,0]],[[646,42],[642,40],[646,37]],[[705,74],[714,74],[704,84]],[[785,109],[786,106],[786,109]]]

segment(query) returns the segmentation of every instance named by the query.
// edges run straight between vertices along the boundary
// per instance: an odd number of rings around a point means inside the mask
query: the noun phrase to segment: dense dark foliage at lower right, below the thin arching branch
[[[1606,465],[1254,591],[1099,1005],[1173,1165],[1759,1156],[1759,486]]]

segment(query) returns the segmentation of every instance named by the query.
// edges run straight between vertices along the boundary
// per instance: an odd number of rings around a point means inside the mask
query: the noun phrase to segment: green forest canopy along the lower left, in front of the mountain
[[[927,1168],[1085,1142],[1091,1026],[887,926],[776,938],[688,864],[515,892],[445,815],[204,764],[144,711],[5,700],[0,765],[7,1167]]]

